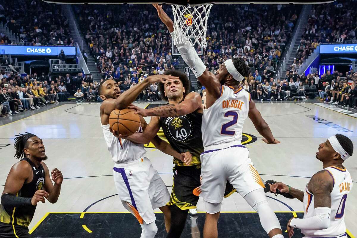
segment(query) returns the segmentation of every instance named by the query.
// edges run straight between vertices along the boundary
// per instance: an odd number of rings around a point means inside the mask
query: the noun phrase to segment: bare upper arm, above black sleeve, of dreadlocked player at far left
[[[29,165],[24,165],[21,163],[14,164],[14,166],[11,167],[9,174],[7,175],[4,191],[2,194],[9,193],[16,195],[16,193],[20,191],[26,182],[26,179],[29,177],[30,170],[31,168],[29,168]]]

